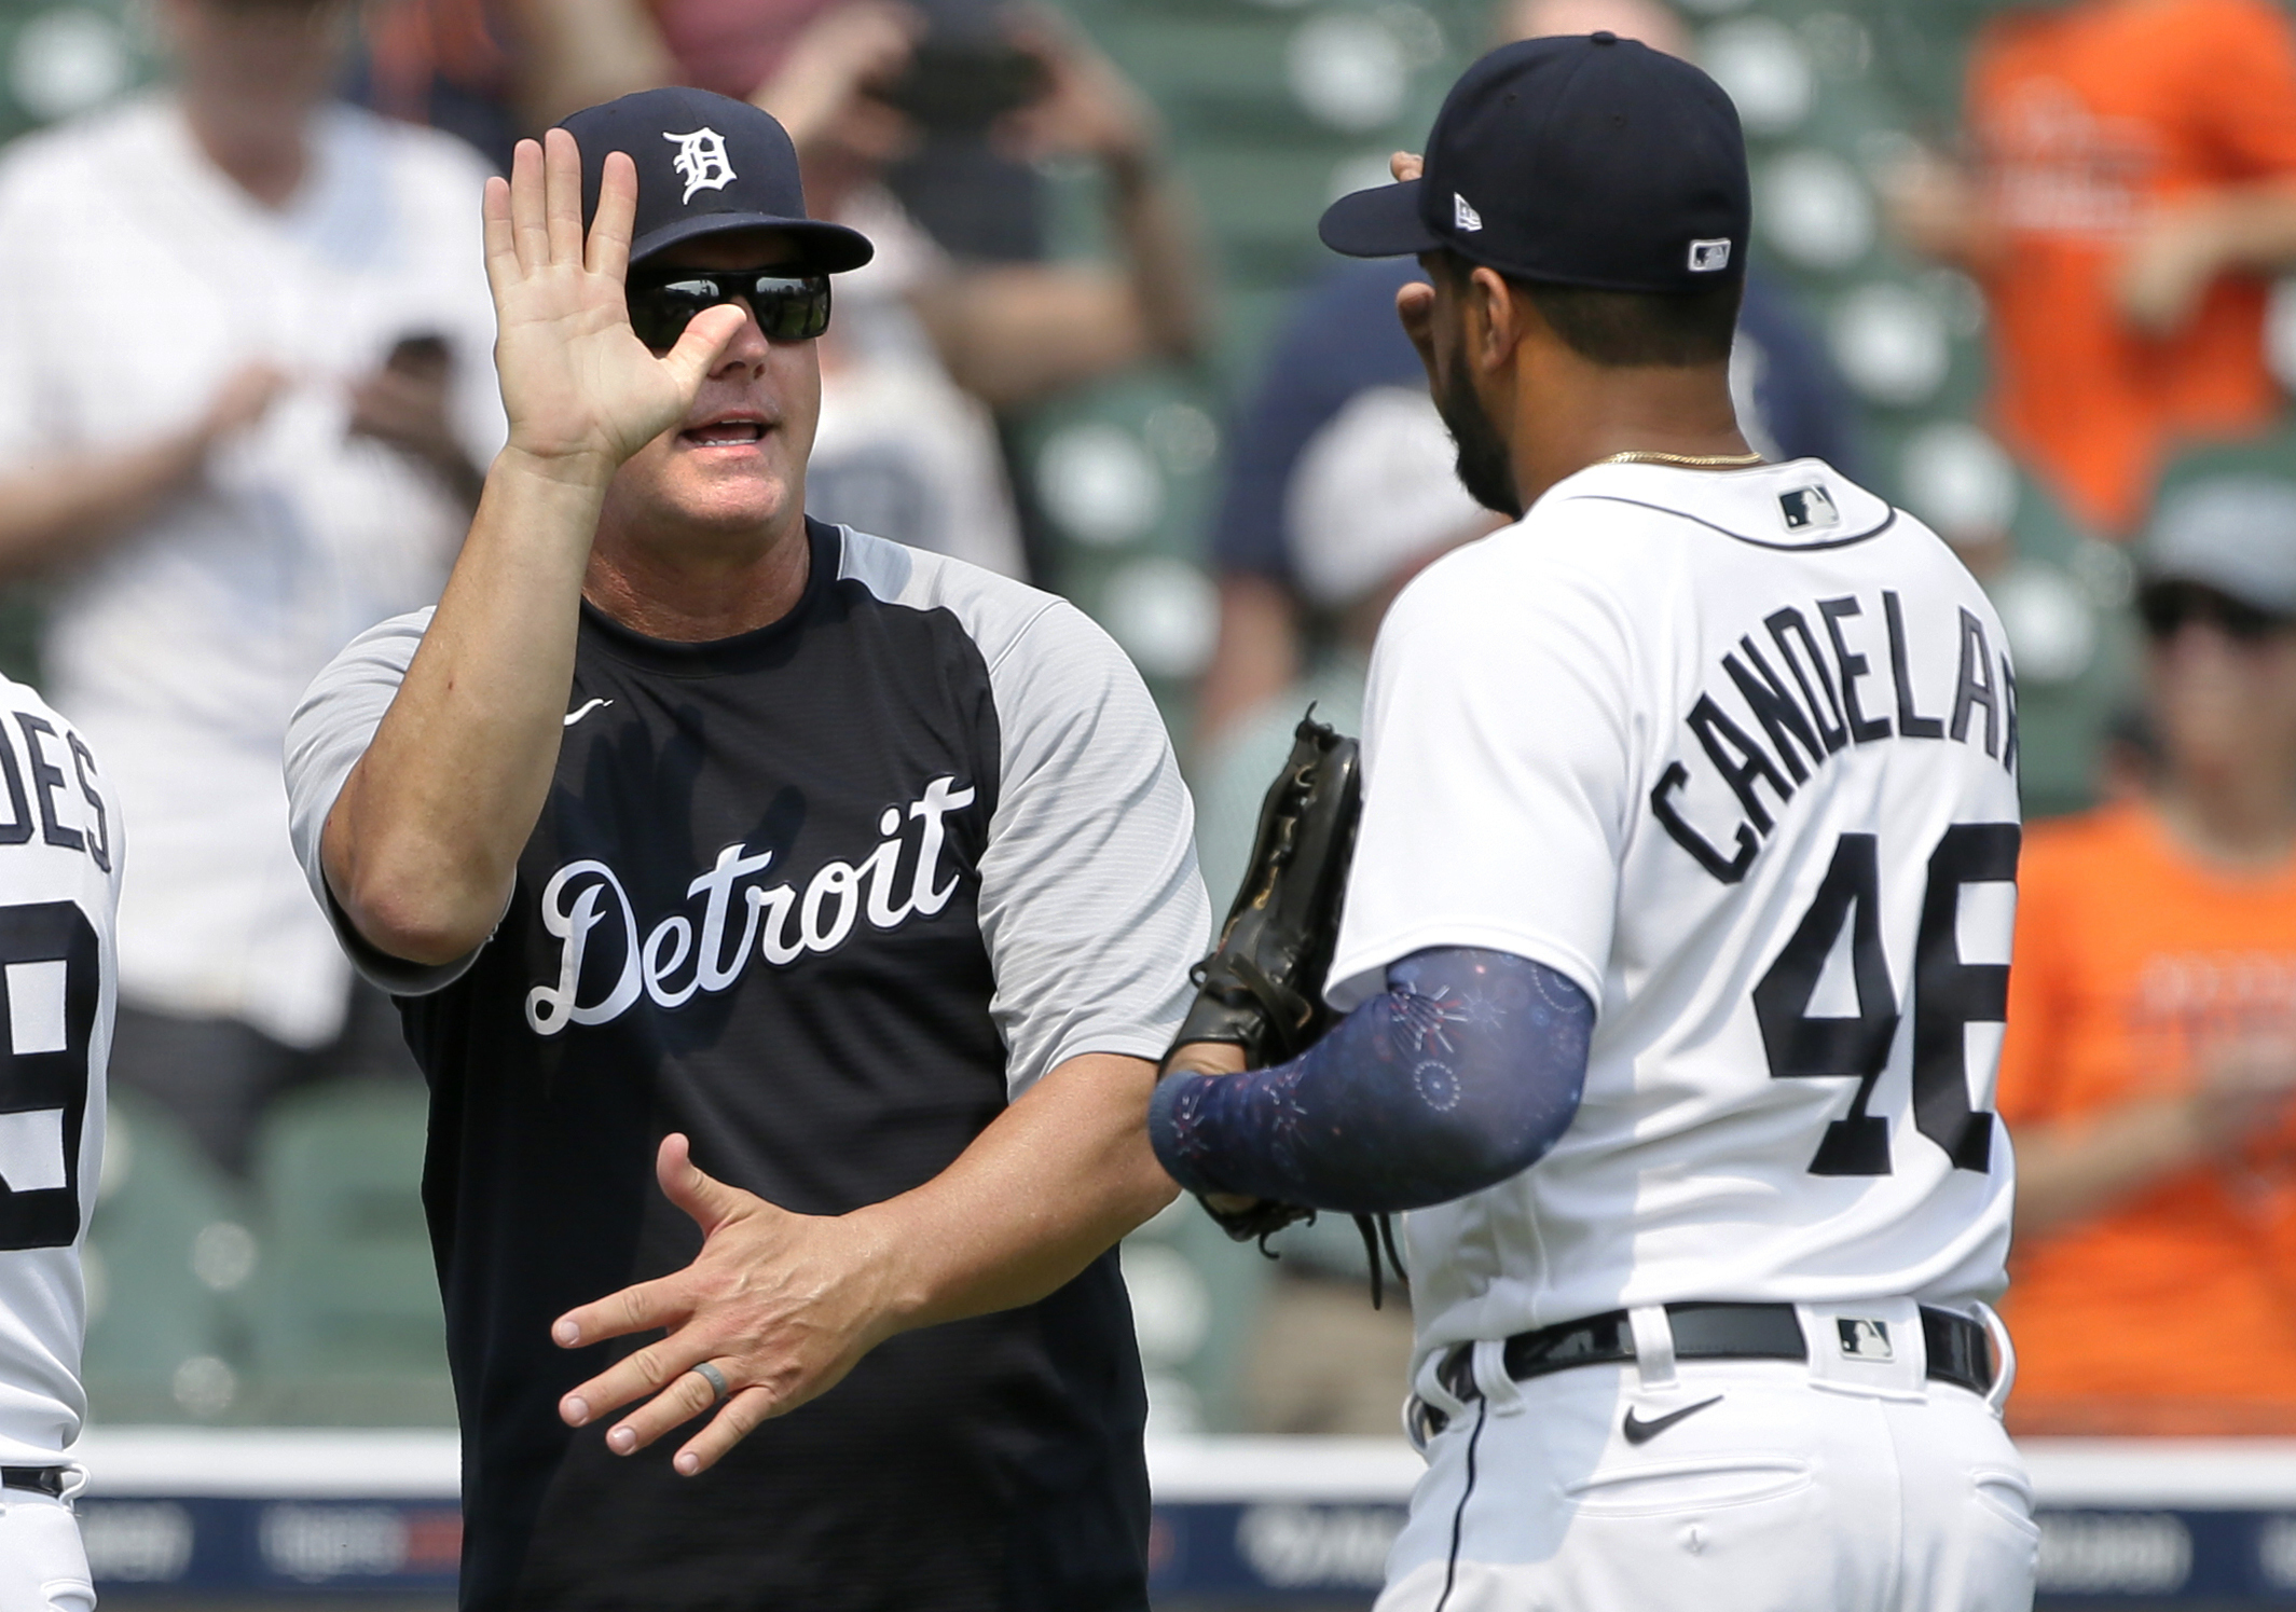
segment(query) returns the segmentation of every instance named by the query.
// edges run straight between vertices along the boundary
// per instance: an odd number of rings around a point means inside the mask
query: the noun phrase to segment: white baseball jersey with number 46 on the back
[[[1332,1001],[1511,951],[1598,1022],[1538,1164],[1407,1219],[1421,1355],[1676,1300],[2002,1286],[2016,682],[1816,459],[1591,466],[1380,629]]]

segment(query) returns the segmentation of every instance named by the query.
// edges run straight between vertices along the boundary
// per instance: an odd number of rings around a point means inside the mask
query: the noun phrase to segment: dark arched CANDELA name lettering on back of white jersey
[[[1784,606],[1722,654],[1683,714],[1683,744],[1651,790],[1651,813],[1706,873],[1736,884],[1777,827],[1777,813],[1835,755],[1864,744],[1979,744],[2016,774],[2016,673],[1965,606],[1952,680],[1915,675],[1906,606],[1892,590]],[[1924,613],[1919,631],[1938,634]],[[1936,666],[1940,661],[1926,664]],[[1736,822],[1699,820],[1699,774],[1736,799]],[[1699,792],[1704,795],[1704,792]],[[1724,850],[1727,847],[1727,850]]]

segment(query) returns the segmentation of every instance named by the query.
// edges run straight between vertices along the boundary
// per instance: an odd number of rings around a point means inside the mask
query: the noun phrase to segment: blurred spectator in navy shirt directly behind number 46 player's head
[[[1502,0],[1492,44],[1609,30],[1690,55],[1690,34],[1662,0]],[[1203,675],[1199,742],[1297,675],[1302,615],[1283,540],[1283,496],[1302,445],[1366,386],[1426,386],[1396,324],[1396,292],[1424,280],[1412,259],[1359,262],[1304,292],[1233,432],[1212,528],[1219,641]],[[1747,443],[1773,459],[1857,468],[1855,406],[1823,344],[1756,269],[1747,276],[1731,354],[1731,393]]]

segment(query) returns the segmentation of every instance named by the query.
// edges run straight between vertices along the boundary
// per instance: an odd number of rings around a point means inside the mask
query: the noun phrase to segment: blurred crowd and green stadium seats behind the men
[[[521,133],[654,83],[790,126],[879,248],[810,510],[1091,611],[1224,909],[1293,721],[1352,726],[1396,588],[1495,524],[1394,326],[1414,269],[1316,216],[1483,48],[1598,28],[1745,122],[1750,439],[1929,521],[2016,650],[2016,1424],[2296,1433],[2278,0],[0,0],[0,661],[133,834],[96,1419],[452,1421],[422,1086],[278,746],[452,560],[501,436],[478,184]],[[1405,1302],[1345,1222],[1277,1251],[1187,1203],[1127,1242],[1157,1431],[1396,1428]]]

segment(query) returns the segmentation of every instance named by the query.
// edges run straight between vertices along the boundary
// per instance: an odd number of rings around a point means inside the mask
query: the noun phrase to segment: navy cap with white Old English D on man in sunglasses
[[[581,147],[581,220],[597,218],[608,152],[638,165],[638,216],[629,259],[726,230],[781,230],[799,250],[794,269],[840,273],[875,255],[868,237],[806,218],[806,186],[788,131],[748,101],[707,90],[641,90],[588,106],[560,129]]]

